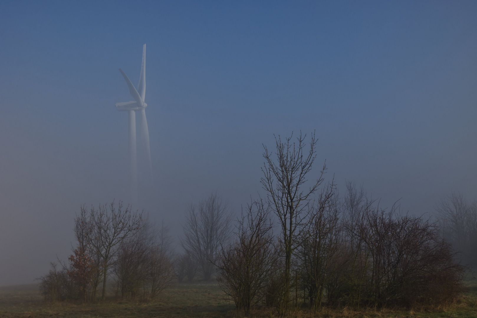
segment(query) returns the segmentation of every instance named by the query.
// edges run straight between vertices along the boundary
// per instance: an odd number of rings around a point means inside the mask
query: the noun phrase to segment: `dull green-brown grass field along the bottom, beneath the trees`
[[[290,317],[393,317],[393,318],[476,318],[477,281],[469,282],[469,290],[462,302],[451,308],[438,308],[432,312],[415,308],[411,311],[367,309],[353,311],[349,308],[324,308],[313,314],[307,310],[291,312]],[[259,309],[250,317],[276,317],[270,309]],[[0,287],[0,317],[236,317],[243,313],[222,293],[217,283],[176,283],[166,289],[154,302],[106,300],[98,304],[56,303],[47,304],[38,293],[37,285]]]

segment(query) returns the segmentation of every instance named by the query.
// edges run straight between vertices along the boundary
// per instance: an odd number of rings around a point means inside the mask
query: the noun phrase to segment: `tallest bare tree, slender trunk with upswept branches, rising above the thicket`
[[[270,206],[278,217],[281,226],[281,239],[285,253],[284,288],[285,299],[280,313],[284,313],[288,307],[290,295],[290,269],[293,251],[298,246],[297,237],[300,236],[303,228],[302,220],[308,215],[309,204],[313,199],[312,195],[318,190],[323,182],[323,174],[326,166],[323,165],[318,179],[313,181],[309,188],[303,190],[307,180],[307,174],[316,158],[315,134],[311,134],[309,144],[310,150],[305,150],[305,137],[297,138],[297,142],[292,142],[293,134],[282,142],[280,136],[275,138],[276,153],[273,156],[264,145],[265,158],[262,167],[263,177],[261,184],[267,191],[267,198]],[[275,158],[274,158],[275,157]]]

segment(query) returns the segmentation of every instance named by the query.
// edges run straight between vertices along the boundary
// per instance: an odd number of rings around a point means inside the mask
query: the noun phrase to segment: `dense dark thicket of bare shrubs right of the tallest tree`
[[[311,211],[295,255],[303,297],[313,309],[438,306],[462,292],[464,267],[441,229],[421,217],[373,205],[363,189],[347,184],[343,200]],[[298,288],[297,288],[298,289]],[[308,295],[305,295],[307,293]]]

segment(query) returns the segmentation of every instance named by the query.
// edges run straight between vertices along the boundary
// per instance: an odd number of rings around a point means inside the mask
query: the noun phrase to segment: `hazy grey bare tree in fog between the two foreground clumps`
[[[181,246],[199,265],[205,280],[214,273],[213,262],[230,236],[231,211],[217,194],[191,205],[183,226]]]

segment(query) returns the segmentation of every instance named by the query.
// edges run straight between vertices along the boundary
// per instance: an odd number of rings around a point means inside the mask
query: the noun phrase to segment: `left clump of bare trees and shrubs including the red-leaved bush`
[[[105,298],[107,278],[114,273],[116,296],[153,299],[169,286],[173,277],[171,238],[168,227],[156,228],[132,212],[121,202],[114,206],[81,206],[74,219],[77,246],[69,256],[69,264],[39,278],[45,299],[96,299],[96,290],[103,282]]]

